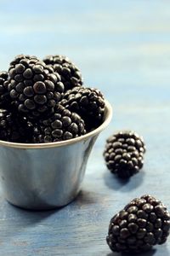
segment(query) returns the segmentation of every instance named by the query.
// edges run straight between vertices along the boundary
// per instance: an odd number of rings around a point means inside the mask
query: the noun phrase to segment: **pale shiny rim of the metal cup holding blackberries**
[[[8,148],[23,148],[23,149],[36,149],[36,148],[58,148],[65,145],[71,145],[74,143],[78,143],[80,141],[86,141],[89,137],[94,137],[99,134],[100,131],[103,131],[107,125],[111,122],[112,118],[112,107],[110,102],[105,100],[105,120],[99,125],[94,131],[90,131],[85,135],[80,137],[72,138],[70,140],[65,140],[56,143],[10,143],[6,141],[0,140],[0,146],[8,147]]]

